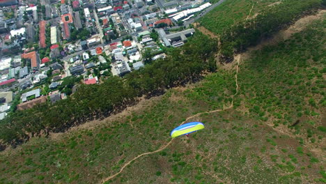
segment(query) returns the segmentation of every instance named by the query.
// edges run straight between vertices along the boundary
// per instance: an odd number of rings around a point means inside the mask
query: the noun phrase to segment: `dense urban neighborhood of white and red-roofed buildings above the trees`
[[[206,0],[0,2],[0,120],[123,77],[195,33]]]

